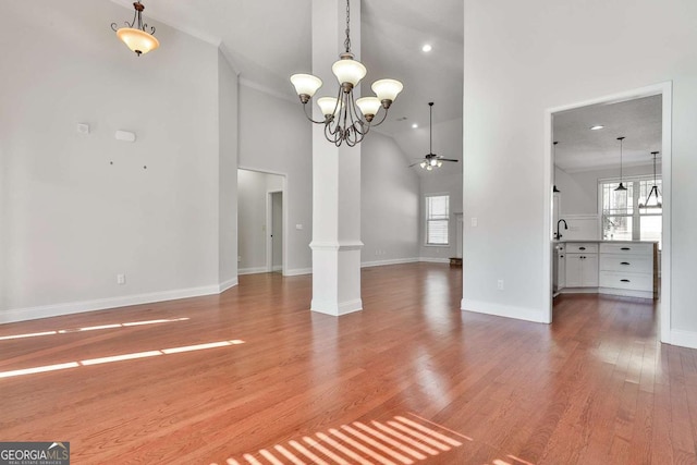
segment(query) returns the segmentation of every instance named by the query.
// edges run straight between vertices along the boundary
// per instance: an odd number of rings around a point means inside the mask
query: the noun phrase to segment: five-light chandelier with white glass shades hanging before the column
[[[360,83],[366,74],[366,66],[354,59],[351,52],[351,4],[346,0],[346,39],[344,40],[345,51],[339,56],[339,60],[331,66],[331,71],[337,76],[339,91],[337,97],[321,97],[317,99],[323,120],[315,121],[311,112],[307,109],[307,102],[315,96],[322,86],[322,81],[311,74],[293,74],[291,83],[295,87],[295,93],[303,103],[305,115],[316,124],[325,125],[325,137],[337,147],[346,143],[348,147],[359,144],[370,127],[381,124],[387,115],[390,106],[402,91],[403,85],[395,79],[380,79],[372,83],[375,97],[354,97],[354,88]],[[382,108],[382,118],[375,121],[375,117]]]

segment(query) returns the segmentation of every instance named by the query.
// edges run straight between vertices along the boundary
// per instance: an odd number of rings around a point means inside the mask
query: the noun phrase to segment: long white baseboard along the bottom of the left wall
[[[236,281],[236,279],[234,280]],[[95,301],[68,302],[64,304],[41,305],[38,307],[15,308],[0,311],[0,323],[36,320],[39,318],[58,317],[61,315],[81,314],[84,311],[106,310],[108,308],[127,307],[130,305],[154,304],[156,302],[174,301],[178,298],[198,297],[201,295],[219,294],[220,287],[225,285],[206,285],[200,287],[178,289],[172,291],[151,292],[147,294],[125,295],[121,297],[98,298]],[[234,284],[233,284],[234,285]]]

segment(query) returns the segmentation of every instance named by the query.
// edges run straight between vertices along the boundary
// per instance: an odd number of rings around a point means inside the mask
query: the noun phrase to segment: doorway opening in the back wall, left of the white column
[[[285,274],[285,186],[283,174],[237,170],[237,274]]]

